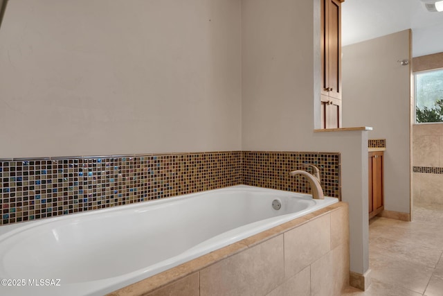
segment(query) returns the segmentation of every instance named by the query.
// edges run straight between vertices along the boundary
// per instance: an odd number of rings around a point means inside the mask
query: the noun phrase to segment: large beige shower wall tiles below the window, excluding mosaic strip
[[[413,166],[443,168],[443,124],[413,125]],[[442,184],[441,173],[414,173],[414,203],[443,204]]]

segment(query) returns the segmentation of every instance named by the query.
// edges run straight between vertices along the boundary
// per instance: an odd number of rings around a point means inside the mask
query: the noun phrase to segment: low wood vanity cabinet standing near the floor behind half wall
[[[368,157],[369,218],[383,211],[383,151],[370,152]]]

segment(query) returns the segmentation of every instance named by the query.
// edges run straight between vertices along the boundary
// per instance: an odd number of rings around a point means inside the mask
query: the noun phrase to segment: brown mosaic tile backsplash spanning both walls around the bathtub
[[[340,197],[339,153],[228,151],[106,157],[0,159],[0,225],[248,184],[309,192],[289,171],[321,171]]]

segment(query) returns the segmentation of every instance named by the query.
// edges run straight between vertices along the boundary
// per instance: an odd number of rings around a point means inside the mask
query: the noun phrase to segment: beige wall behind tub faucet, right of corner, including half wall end
[[[368,132],[314,132],[316,103],[320,2],[242,0],[242,149],[341,153],[350,269],[363,274],[369,267]]]

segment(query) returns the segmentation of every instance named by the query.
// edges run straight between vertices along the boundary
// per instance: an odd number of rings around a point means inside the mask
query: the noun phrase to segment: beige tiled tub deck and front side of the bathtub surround
[[[349,284],[348,207],[338,202],[108,296],[341,295]]]

